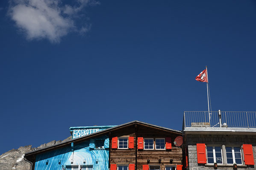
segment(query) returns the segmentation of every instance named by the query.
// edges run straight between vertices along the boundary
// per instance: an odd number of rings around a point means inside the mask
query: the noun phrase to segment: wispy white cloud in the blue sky
[[[73,6],[61,0],[11,0],[8,14],[28,40],[46,38],[55,43],[71,31],[85,34],[90,24],[79,28],[76,20],[85,6],[97,4],[95,0],[77,0]]]

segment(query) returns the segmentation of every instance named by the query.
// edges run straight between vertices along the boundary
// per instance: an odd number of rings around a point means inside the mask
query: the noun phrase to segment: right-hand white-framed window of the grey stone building
[[[227,164],[242,164],[241,147],[226,147]]]

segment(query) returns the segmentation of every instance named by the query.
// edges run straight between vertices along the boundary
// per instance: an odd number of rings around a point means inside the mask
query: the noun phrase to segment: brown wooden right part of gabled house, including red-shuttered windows
[[[173,142],[182,132],[144,122],[130,122],[109,132],[110,170],[182,169],[182,148]]]

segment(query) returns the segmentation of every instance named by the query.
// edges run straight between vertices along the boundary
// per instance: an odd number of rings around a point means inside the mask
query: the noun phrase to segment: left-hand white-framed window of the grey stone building
[[[207,146],[207,163],[213,164],[217,162],[217,164],[223,164],[222,161],[222,149],[220,146]]]

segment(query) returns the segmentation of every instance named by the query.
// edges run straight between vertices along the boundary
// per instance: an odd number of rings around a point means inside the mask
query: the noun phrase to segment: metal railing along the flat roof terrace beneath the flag
[[[184,127],[256,127],[256,112],[185,111]]]

